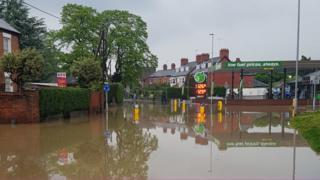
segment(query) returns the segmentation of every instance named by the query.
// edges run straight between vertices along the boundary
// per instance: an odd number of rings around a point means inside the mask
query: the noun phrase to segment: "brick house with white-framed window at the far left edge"
[[[20,32],[0,19],[0,58],[6,53],[18,52]],[[12,82],[6,73],[0,71],[0,91],[13,91]]]

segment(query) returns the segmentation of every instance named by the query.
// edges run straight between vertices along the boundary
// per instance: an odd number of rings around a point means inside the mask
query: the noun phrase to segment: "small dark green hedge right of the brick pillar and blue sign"
[[[121,83],[110,84],[110,91],[108,92],[108,103],[115,102],[122,104],[124,98],[124,87]]]

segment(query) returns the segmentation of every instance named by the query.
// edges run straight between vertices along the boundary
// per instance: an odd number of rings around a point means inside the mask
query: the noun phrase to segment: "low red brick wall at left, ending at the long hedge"
[[[18,93],[0,93],[0,123],[36,123],[40,121],[39,93],[26,91]]]

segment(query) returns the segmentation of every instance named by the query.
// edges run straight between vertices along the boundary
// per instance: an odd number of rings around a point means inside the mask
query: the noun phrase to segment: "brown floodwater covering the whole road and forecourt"
[[[289,111],[139,107],[1,124],[0,179],[320,179]]]

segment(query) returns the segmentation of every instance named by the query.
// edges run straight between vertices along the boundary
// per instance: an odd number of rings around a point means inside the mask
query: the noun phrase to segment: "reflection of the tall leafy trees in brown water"
[[[99,137],[70,148],[76,162],[56,165],[54,171],[70,179],[147,179],[147,161],[158,148],[158,139],[119,118],[121,114],[118,111],[110,113],[109,131],[113,142]]]

